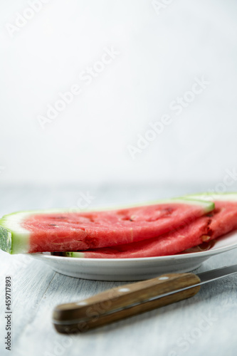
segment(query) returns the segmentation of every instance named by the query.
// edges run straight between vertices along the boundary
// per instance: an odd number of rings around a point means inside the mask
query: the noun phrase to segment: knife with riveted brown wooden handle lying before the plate
[[[59,333],[85,332],[190,298],[203,284],[234,273],[237,273],[237,265],[199,274],[169,273],[105,290],[75,303],[57,305],[53,310],[53,325]]]

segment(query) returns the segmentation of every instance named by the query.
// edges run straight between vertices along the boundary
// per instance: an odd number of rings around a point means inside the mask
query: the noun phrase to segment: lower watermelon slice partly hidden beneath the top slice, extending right
[[[194,196],[203,199],[203,195]],[[65,252],[63,256],[79,258],[139,258],[180,253],[237,229],[237,194],[205,196],[215,199],[215,209],[189,225],[153,239],[88,251]]]

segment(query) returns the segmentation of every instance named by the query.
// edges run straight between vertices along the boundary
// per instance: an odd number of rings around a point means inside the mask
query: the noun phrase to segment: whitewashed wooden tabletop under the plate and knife
[[[232,187],[233,188],[233,187]],[[91,205],[122,204],[208,189],[203,187],[2,187],[0,214],[22,209],[75,206],[90,191]],[[237,249],[206,261],[200,271],[237,263]],[[28,256],[0,251],[0,355],[236,355],[237,276],[201,287],[189,300],[78,335],[60,335],[51,323],[53,307],[122,283],[85,281],[60,275]],[[12,343],[5,350],[4,283],[10,275]]]

